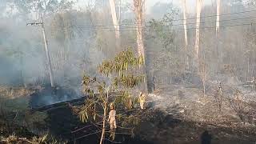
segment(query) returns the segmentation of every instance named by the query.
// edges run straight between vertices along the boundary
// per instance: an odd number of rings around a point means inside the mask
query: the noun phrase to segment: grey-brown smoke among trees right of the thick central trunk
[[[221,5],[218,38],[215,33],[215,2],[202,7],[199,58],[200,63],[206,66],[207,81],[218,80],[218,82],[230,84],[230,79],[235,77],[238,81],[236,80],[232,85],[237,85],[245,82],[246,79],[251,79],[256,74],[253,62],[255,60],[253,36],[255,34],[255,11],[254,7],[246,5],[244,1],[226,0],[222,1]],[[166,6],[158,3],[151,9],[154,12],[153,15],[161,14],[162,10],[166,10]],[[169,9],[172,8],[174,7]],[[149,30],[146,31],[146,50],[150,75],[154,75],[157,82],[163,82],[162,85],[175,83],[169,79],[182,79],[180,74],[186,74],[182,10],[176,12],[177,16],[173,13],[172,18],[157,16],[156,21],[146,23],[149,25],[146,28]],[[190,71],[196,71],[194,70],[195,14],[190,13],[186,17],[189,18],[187,20],[189,40],[187,55],[190,59]],[[165,45],[165,42],[168,43]],[[190,78],[186,78],[186,81],[190,82]]]

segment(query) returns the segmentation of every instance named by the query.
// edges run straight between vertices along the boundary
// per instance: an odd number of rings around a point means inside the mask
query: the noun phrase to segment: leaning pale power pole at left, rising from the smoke
[[[42,14],[41,14],[41,21],[42,21],[42,24],[41,24],[41,26],[42,26],[42,36],[43,36],[43,40],[44,40],[44,44],[45,44],[46,58],[47,58],[47,61],[48,61],[47,66],[48,66],[49,75],[50,75],[50,86],[54,87],[53,69],[52,69],[51,62],[50,62],[50,54],[49,54],[49,50],[48,50],[48,43],[47,43],[47,39],[46,39],[46,30],[45,30]]]

